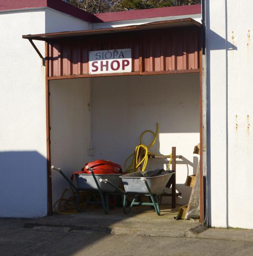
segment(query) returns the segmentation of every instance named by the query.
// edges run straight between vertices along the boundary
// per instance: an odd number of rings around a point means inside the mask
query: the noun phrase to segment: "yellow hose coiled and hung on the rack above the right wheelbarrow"
[[[151,133],[153,135],[153,140],[151,141],[151,143],[148,146],[146,146],[142,142],[143,136],[145,133]],[[157,137],[158,133],[159,133],[159,123],[156,124],[156,133],[154,133],[151,130],[146,130],[140,135],[140,144],[135,147],[135,152],[132,153],[132,155],[129,155],[129,157],[126,158],[126,161],[124,163],[124,168],[125,168],[126,172],[128,172],[128,173],[129,172],[137,172],[137,168],[140,167],[142,164],[143,164],[142,171],[145,171],[147,163],[148,163],[148,155],[159,155],[159,154],[149,151],[149,149],[153,146],[153,144],[155,144],[156,137]],[[138,163],[140,153],[142,154],[142,160]],[[172,155],[170,154],[170,162],[167,167],[167,170],[170,169],[170,164],[171,164],[171,160],[172,160],[171,156]],[[128,167],[126,167],[126,164],[131,157],[132,157],[132,161],[131,161],[130,165]]]

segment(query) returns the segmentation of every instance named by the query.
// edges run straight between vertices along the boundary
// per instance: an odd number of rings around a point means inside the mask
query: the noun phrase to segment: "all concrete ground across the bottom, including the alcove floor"
[[[174,221],[175,211],[156,216],[147,207],[122,215],[89,209],[76,215],[0,219],[2,256],[251,256],[253,231],[207,229]]]

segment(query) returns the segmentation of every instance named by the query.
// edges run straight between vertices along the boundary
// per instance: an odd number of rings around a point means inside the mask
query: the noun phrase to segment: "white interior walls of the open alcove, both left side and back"
[[[51,156],[70,177],[89,161],[108,159],[124,166],[126,158],[139,144],[145,130],[159,137],[151,151],[168,155],[177,147],[177,190],[179,204],[186,204],[191,188],[184,185],[187,175],[196,172],[198,156],[193,149],[199,143],[199,74],[158,76],[122,76],[50,82]],[[92,103],[91,113],[88,103]],[[88,156],[92,115],[94,155]],[[144,138],[148,144],[150,134]],[[147,169],[166,168],[167,161],[150,159]],[[59,173],[53,173],[54,201],[66,188]],[[164,201],[166,202],[166,200]],[[168,201],[167,201],[168,202]]]

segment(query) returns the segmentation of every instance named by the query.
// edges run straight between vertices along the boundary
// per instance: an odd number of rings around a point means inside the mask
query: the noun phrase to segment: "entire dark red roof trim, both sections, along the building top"
[[[201,5],[153,8],[135,11],[119,11],[103,14],[90,14],[62,0],[0,0],[0,11],[49,7],[87,22],[115,22],[132,19],[201,14]]]

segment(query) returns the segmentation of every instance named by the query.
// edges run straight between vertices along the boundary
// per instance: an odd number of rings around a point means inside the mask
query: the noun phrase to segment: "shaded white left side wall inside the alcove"
[[[90,146],[90,79],[50,81],[51,163],[70,177],[92,160]],[[53,203],[68,183],[52,170]],[[66,195],[68,196],[68,194]]]

